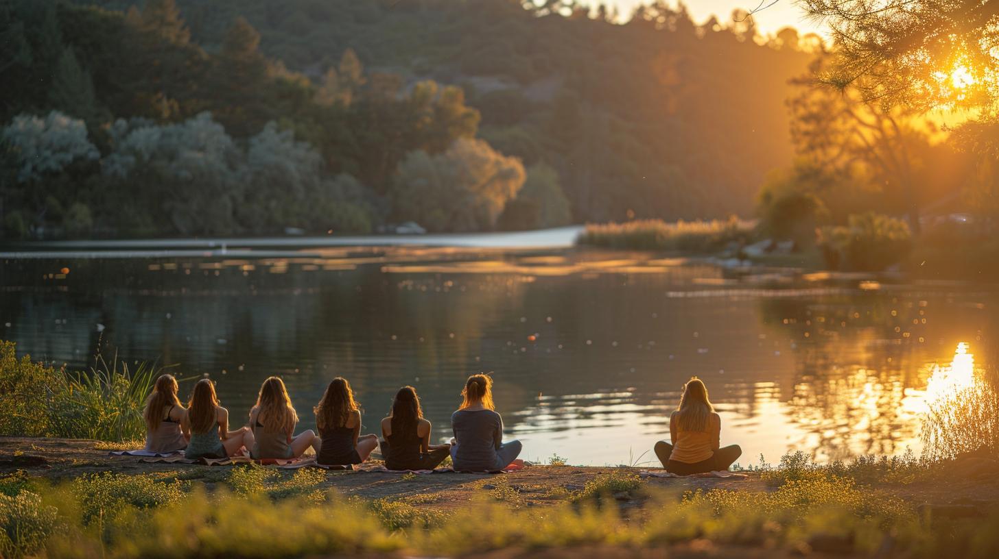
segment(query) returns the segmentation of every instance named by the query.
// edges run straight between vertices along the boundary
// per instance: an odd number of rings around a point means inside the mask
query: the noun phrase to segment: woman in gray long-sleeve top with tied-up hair
[[[499,471],[520,453],[520,441],[502,441],[502,417],[493,410],[493,378],[473,374],[462,390],[465,400],[451,416],[455,441],[451,457],[459,471]]]

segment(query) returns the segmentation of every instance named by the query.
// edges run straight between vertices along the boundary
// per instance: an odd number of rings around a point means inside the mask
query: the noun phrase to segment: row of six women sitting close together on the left
[[[494,410],[493,379],[474,374],[465,383],[463,402],[452,415],[455,437],[450,444],[431,444],[431,422],[424,418],[413,386],[396,393],[392,411],[382,420],[382,440],[361,434],[361,407],[346,378],[330,382],[316,413],[317,435],[307,429],[298,435],[298,413],[284,381],[264,381],[249,425],[229,430],[229,410],[219,404],[215,383],[199,380],[187,407],[177,397],[177,380],[160,376],[146,400],[146,450],[170,453],[184,450],[188,458],[225,458],[249,451],[255,459],[290,459],[310,446],[323,465],[360,464],[381,444],[386,467],[393,470],[433,469],[452,457],[455,469],[494,471],[509,465],[520,453],[520,442],[502,441],[502,418]]]

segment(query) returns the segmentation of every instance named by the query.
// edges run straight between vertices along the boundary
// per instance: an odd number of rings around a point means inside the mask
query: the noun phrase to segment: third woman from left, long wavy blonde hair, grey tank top
[[[264,381],[257,395],[257,403],[250,410],[250,425],[254,444],[250,456],[263,458],[295,458],[312,446],[319,452],[322,441],[312,429],[293,436],[299,414],[292,406],[285,382],[271,376]]]

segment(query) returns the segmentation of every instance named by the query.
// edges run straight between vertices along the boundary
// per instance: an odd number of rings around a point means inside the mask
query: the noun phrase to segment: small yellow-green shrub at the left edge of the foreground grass
[[[40,551],[58,527],[58,511],[29,491],[0,494],[0,557],[24,557]]]

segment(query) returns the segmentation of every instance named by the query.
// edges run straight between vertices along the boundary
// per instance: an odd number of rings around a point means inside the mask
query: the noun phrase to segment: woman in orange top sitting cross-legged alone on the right
[[[721,417],[707,398],[707,387],[696,376],[683,385],[680,404],[669,416],[669,442],[655,443],[655,455],[666,471],[691,475],[727,470],[742,449],[720,446]]]

